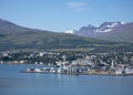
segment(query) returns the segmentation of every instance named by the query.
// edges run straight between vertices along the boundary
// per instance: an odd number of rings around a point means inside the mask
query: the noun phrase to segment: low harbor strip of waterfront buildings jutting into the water
[[[113,75],[113,76],[126,76],[133,75],[133,68],[111,68],[105,71],[104,68],[90,68],[89,66],[57,66],[57,67],[43,67],[43,68],[27,68],[20,71],[21,73],[43,73],[43,74],[71,74],[71,75]]]

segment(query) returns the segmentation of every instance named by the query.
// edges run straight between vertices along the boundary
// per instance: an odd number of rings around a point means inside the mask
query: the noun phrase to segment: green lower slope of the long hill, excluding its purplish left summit
[[[0,50],[75,49],[75,51],[81,51],[81,50],[84,51],[84,49],[86,49],[90,51],[92,49],[100,46],[104,46],[104,48],[105,46],[110,48],[114,45],[119,46],[120,43],[105,42],[101,40],[88,39],[72,34],[64,34],[64,33],[34,31],[34,32],[24,32],[24,33],[8,33],[3,36],[0,36],[0,45],[1,45]]]

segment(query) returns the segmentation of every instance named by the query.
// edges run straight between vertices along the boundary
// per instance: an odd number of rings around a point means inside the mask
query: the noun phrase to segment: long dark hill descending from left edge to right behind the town
[[[131,44],[24,28],[0,19],[0,51],[86,49],[104,52],[129,45]]]

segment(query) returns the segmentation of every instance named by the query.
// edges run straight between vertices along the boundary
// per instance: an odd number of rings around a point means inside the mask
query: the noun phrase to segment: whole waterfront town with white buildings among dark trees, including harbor
[[[133,75],[133,52],[89,53],[6,51],[0,53],[0,63],[50,66],[43,68],[28,68],[25,72]]]

